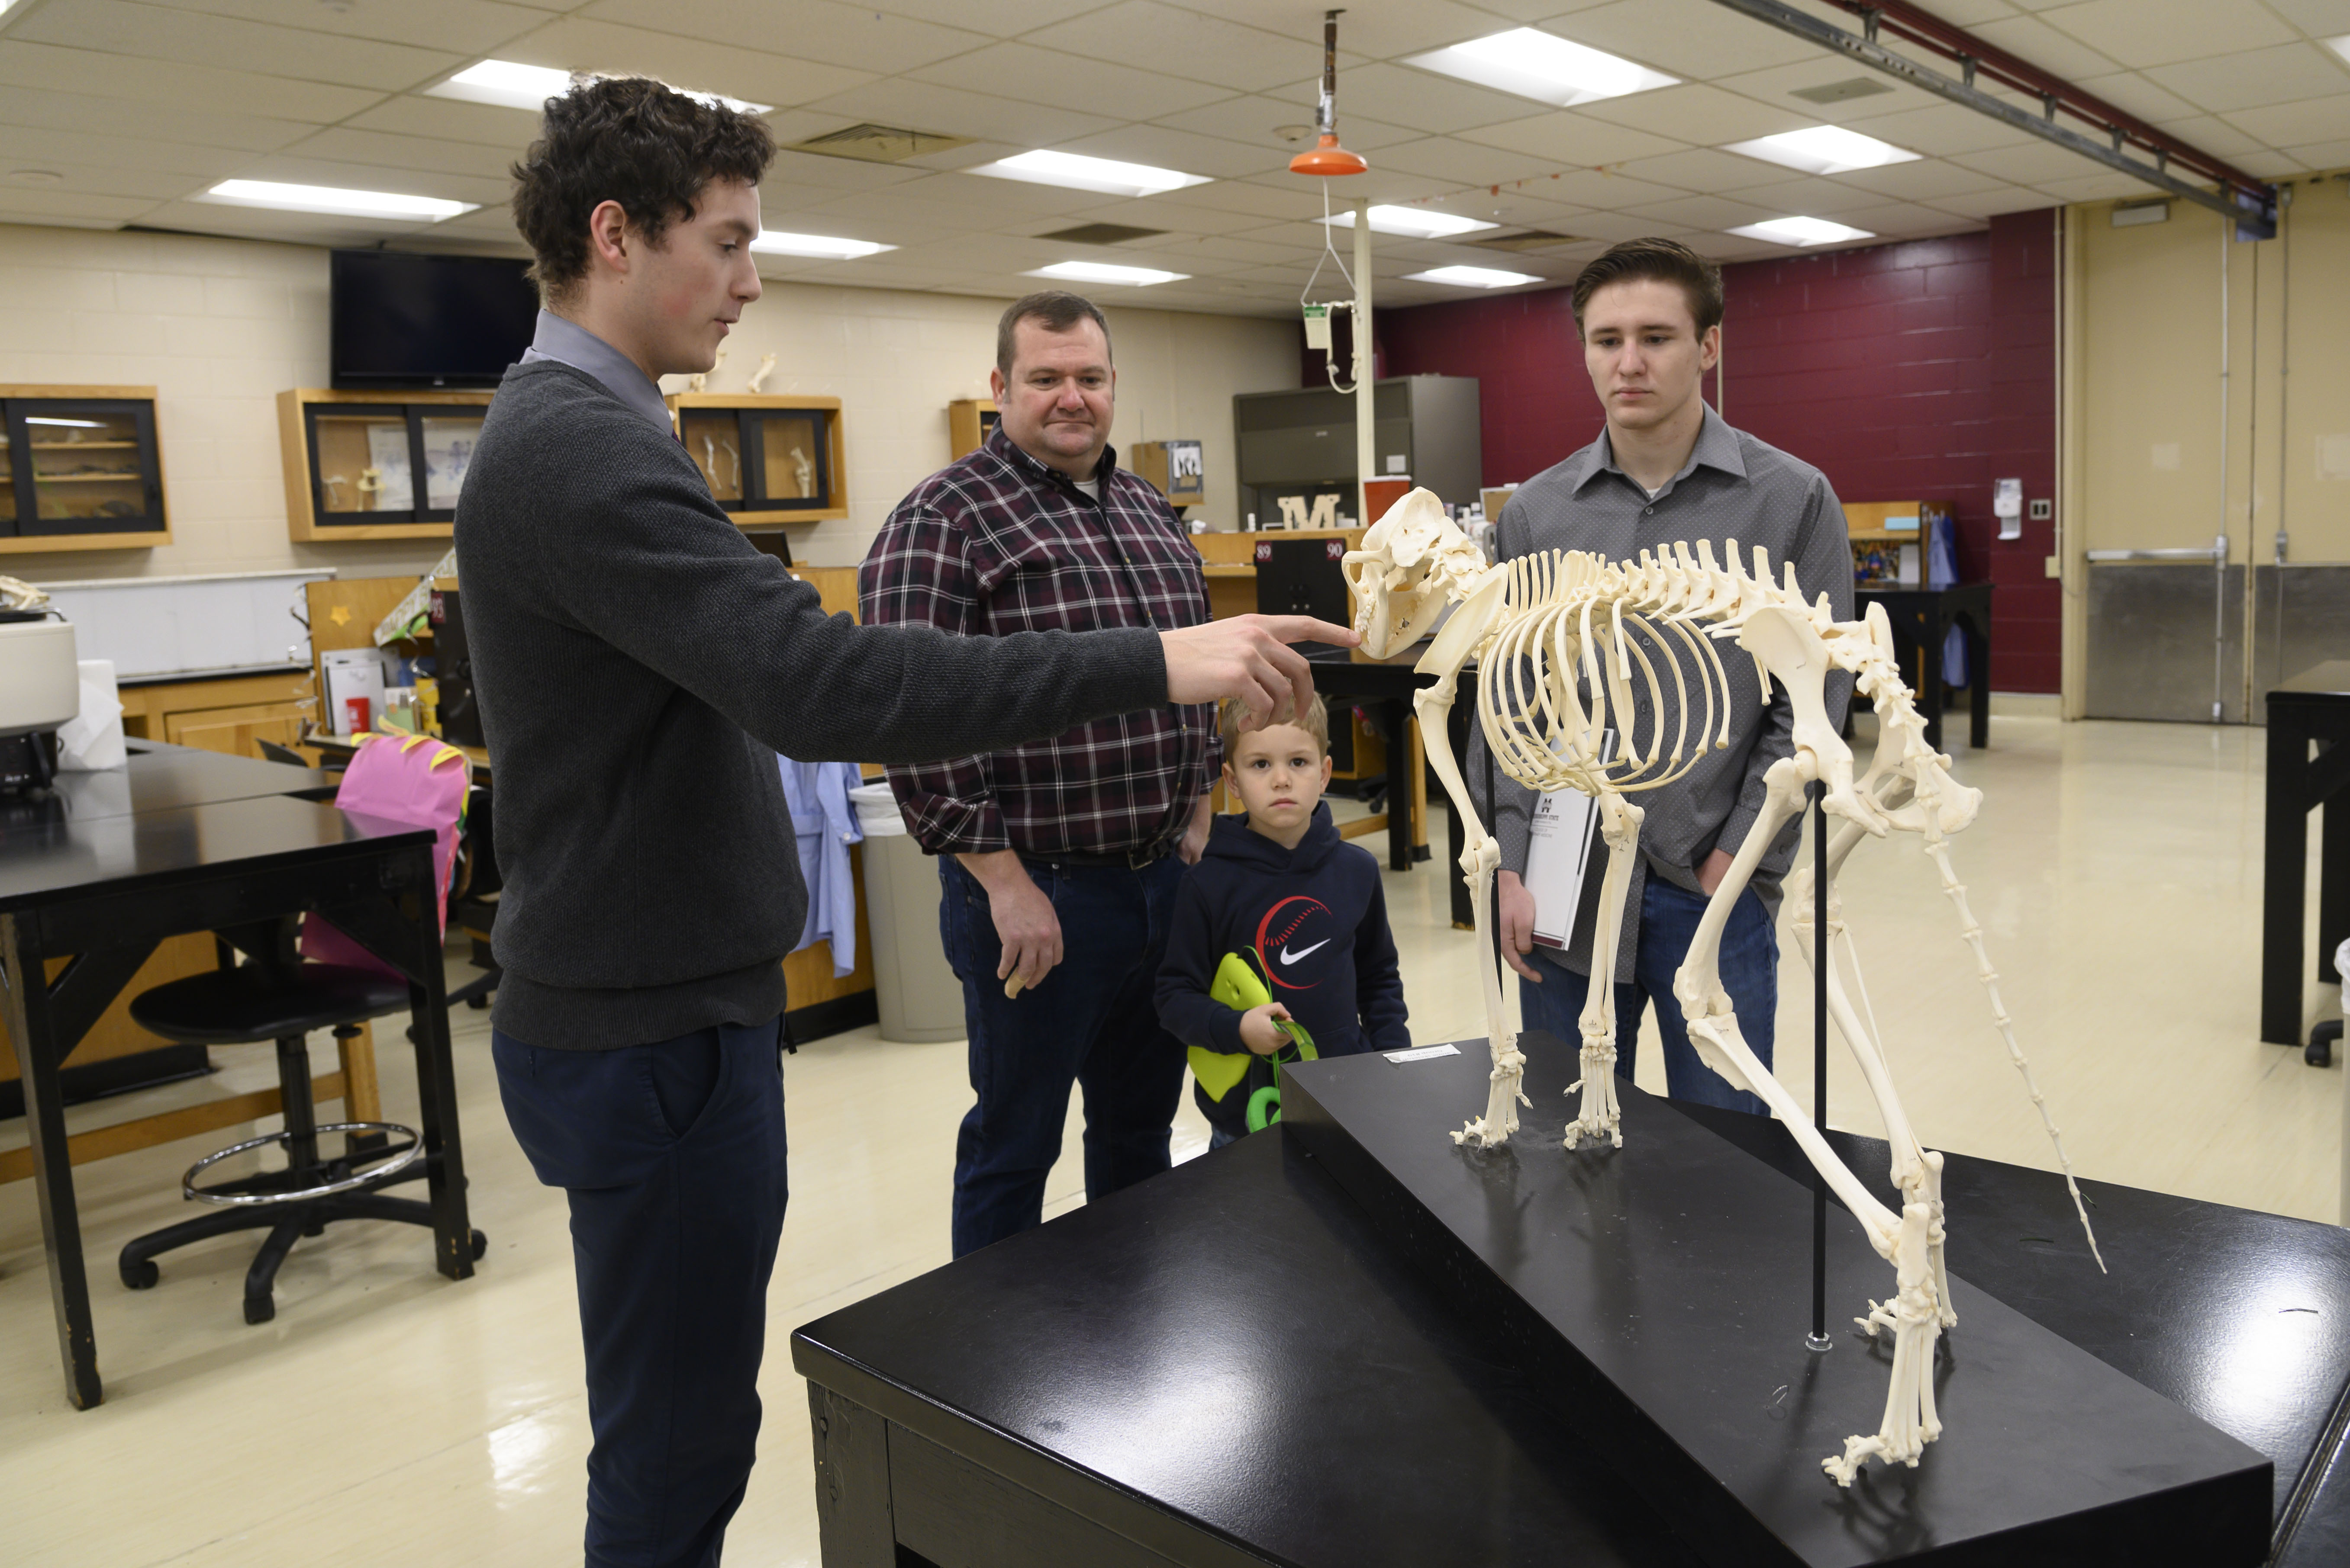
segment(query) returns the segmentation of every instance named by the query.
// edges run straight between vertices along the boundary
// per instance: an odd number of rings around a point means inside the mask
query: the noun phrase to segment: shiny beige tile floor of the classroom
[[[2077,1169],[2334,1221],[2343,1080],[2261,1045],[2254,1023],[2261,732],[2002,716],[1990,751],[1960,753],[1958,772],[1988,796],[1958,840],[1960,876]],[[1443,894],[1429,871],[1389,873],[1422,1040],[1483,1033],[1469,937],[1450,930]],[[1845,904],[1927,1143],[2047,1164],[1932,864],[1913,845],[1864,847]],[[1800,960],[1786,991],[1779,1035],[1802,1042]],[[2310,986],[2308,1005],[2315,1016],[2336,993]],[[414,1230],[352,1225],[296,1249],[277,1319],[258,1329],[237,1312],[249,1242],[174,1253],[160,1289],[129,1293],[113,1249],[179,1218],[179,1171],[228,1136],[82,1167],[108,1387],[96,1411],[75,1413],[61,1394],[31,1185],[0,1188],[0,1561],[578,1561],[588,1422],[562,1199],[531,1181],[505,1129],[486,1045],[484,1014],[461,1014],[475,1223],[491,1237],[465,1284],[430,1272]],[[266,1080],[261,1054],[242,1056],[176,1094]],[[1661,1087],[1647,1056],[1640,1082]],[[411,1096],[385,1061],[400,1115]],[[1802,1052],[1784,1061],[1810,1103]],[[961,1045],[888,1045],[872,1030],[825,1040],[790,1061],[787,1096],[794,1202],[768,1312],[768,1425],[728,1554],[759,1568],[818,1561],[787,1331],[947,1261]],[[1833,1122],[1875,1129],[1842,1061],[1828,1103]],[[134,1108],[87,1106],[75,1124]],[[7,1138],[24,1138],[21,1122],[0,1127]],[[1189,1106],[1175,1138],[1177,1157],[1206,1150]],[[1065,1160],[1050,1214],[1079,1202]]]

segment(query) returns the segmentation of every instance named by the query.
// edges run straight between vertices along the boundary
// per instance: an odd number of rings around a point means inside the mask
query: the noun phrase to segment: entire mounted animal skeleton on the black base
[[[1596,976],[1612,974],[1617,962],[1624,899],[1640,843],[1643,812],[1636,796],[1680,779],[1704,751],[1727,746],[1734,695],[1718,643],[1734,641],[1753,657],[1765,702],[1774,681],[1786,690],[1793,756],[1779,758],[1762,775],[1762,815],[1706,904],[1690,955],[1673,976],[1673,998],[1687,1019],[1690,1045],[1706,1066],[1770,1106],[1868,1232],[1878,1256],[1894,1265],[1894,1291],[1882,1303],[1871,1300],[1868,1314],[1854,1319],[1871,1336],[1894,1336],[1885,1415],[1875,1434],[1845,1439],[1845,1451],[1824,1458],[1821,1467],[1838,1486],[1849,1486],[1871,1458],[1915,1467],[1925,1446],[1941,1434],[1934,1413],[1934,1347],[1958,1324],[1958,1314],[1950,1310],[1943,1270],[1943,1157],[1918,1143],[1894,1091],[1875,1012],[1861,984],[1859,953],[1835,894],[1835,878],[1861,838],[1915,833],[1934,861],[1941,892],[1958,911],[1960,939],[1990,998],[1993,1028],[2040,1110],[2092,1253],[2096,1235],[2073,1183],[2063,1138],[2000,1000],[2000,976],[1983,951],[1983,930],[1950,866],[1948,838],[1974,822],[1981,791],[1958,784],[1948,775],[1950,758],[1927,744],[1925,721],[1901,681],[1885,613],[1871,606],[1866,620],[1840,622],[1826,596],[1805,601],[1793,566],[1781,582],[1772,582],[1765,552],[1753,552],[1748,570],[1734,540],[1725,542],[1723,561],[1716,561],[1713,542],[1706,540],[1694,552],[1687,545],[1673,545],[1671,554],[1640,552],[1631,563],[1567,549],[1488,566],[1429,491],[1412,491],[1372,523],[1361,549],[1347,552],[1344,573],[1368,655],[1389,657],[1436,629],[1417,664],[1436,683],[1419,690],[1415,709],[1429,763],[1464,824],[1462,873],[1476,906],[1485,1028],[1492,1042],[1485,1110],[1452,1134],[1455,1143],[1492,1148],[1509,1141],[1518,1129],[1518,1106],[1530,1103],[1518,1089],[1525,1056],[1504,1023],[1499,960],[1485,925],[1499,843],[1478,819],[1445,728],[1459,674],[1471,664],[1480,671],[1476,716],[1504,775],[1537,791],[1577,789],[1598,807],[1607,871],[1593,922]],[[1438,627],[1448,606],[1452,615]],[[1661,657],[1652,660],[1650,648],[1661,650]],[[1878,751],[1859,775],[1852,749],[1828,723],[1826,676],[1838,669],[1852,674],[1856,697],[1866,697],[1878,714]],[[1697,725],[1690,723],[1692,714],[1699,716]],[[1610,728],[1619,735],[1612,753],[1603,746]],[[1814,930],[1807,866],[1788,878],[1786,897],[1793,904],[1795,944],[1807,965],[1828,967],[1828,1016],[1859,1061],[1885,1120],[1889,1178],[1899,1192],[1894,1204],[1880,1202],[1838,1160],[1810,1115],[1755,1059],[1718,972],[1730,908],[1779,829],[1805,810],[1812,782],[1826,784],[1831,824],[1826,934]],[[1582,1101],[1577,1117],[1567,1122],[1565,1145],[1622,1145],[1614,986],[1589,988],[1577,1030],[1582,1077],[1567,1094],[1579,1091]]]

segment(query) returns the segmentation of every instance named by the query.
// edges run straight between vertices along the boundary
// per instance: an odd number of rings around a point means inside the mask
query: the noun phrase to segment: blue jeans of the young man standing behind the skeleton
[[[1657,876],[1647,878],[1640,897],[1640,953],[1633,958],[1631,981],[1617,986],[1617,1077],[1631,1082],[1633,1059],[1640,1049],[1640,1009],[1657,1002],[1664,1082],[1671,1096],[1770,1115],[1762,1096],[1732,1089],[1720,1073],[1704,1063],[1697,1047],[1690,1045],[1680,1002],[1673,1000],[1673,969],[1690,958],[1690,939],[1697,937],[1697,920],[1704,913],[1704,894],[1673,887]],[[1591,981],[1542,948],[1535,955],[1542,965],[1542,984],[1518,981],[1518,1012],[1528,1028],[1558,1035],[1572,1047],[1582,1040],[1579,1019],[1584,1000],[1591,995]],[[1720,969],[1723,988],[1730,991],[1730,1002],[1739,1009],[1739,1033],[1767,1068],[1779,1021],[1779,937],[1770,915],[1762,913],[1762,899],[1751,887],[1730,906]]]

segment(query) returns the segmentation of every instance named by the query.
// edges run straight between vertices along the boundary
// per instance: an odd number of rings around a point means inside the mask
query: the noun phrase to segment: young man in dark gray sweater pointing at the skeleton
[[[515,1136],[571,1202],[588,1563],[719,1561],[759,1430],[785,1207],[776,753],[919,763],[1107,714],[1311,692],[1304,617],[954,638],[825,617],[677,444],[658,378],[759,298],[764,122],[646,80],[550,99],[515,167],[545,310],[456,514],[505,892]]]

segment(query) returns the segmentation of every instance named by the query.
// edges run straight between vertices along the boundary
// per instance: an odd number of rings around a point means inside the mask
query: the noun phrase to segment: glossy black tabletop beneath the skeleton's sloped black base
[[[1704,1120],[1807,1178],[1777,1124]],[[2110,1277],[2061,1178],[1953,1155],[1950,1270],[2270,1455],[2282,1526],[2322,1552],[2345,1514],[2322,1481],[2345,1469],[2350,1235],[2084,1185]],[[792,1352],[1144,1545],[1182,1528],[1300,1568],[1690,1561],[1607,1479],[1603,1434],[1535,1401],[1281,1136],[818,1319]],[[2329,1561],[2303,1542],[2277,1561]]]

